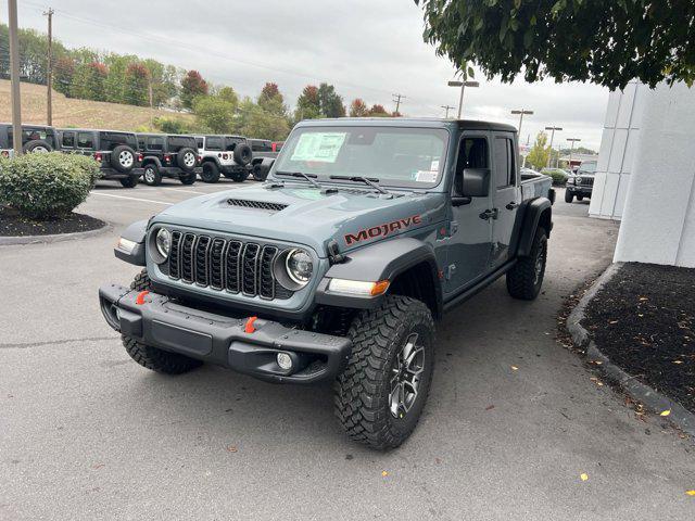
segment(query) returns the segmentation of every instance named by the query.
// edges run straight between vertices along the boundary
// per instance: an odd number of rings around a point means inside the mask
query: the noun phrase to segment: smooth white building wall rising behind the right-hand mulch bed
[[[614,138],[602,199],[608,201],[608,208],[612,198],[614,215],[622,176],[629,179],[615,260],[695,267],[695,89],[677,84],[672,88],[659,85],[649,90],[640,86],[635,90],[636,98],[642,99],[637,102],[635,98],[632,103],[632,117],[637,111],[640,117],[636,127],[631,124],[627,129],[621,161],[621,168],[627,164],[629,174],[610,171],[612,150],[623,141],[616,135],[623,129],[606,129]],[[634,130],[635,141],[630,143]],[[627,163],[630,148],[634,152]],[[610,183],[618,188],[609,188]],[[601,207],[603,212],[603,202]]]

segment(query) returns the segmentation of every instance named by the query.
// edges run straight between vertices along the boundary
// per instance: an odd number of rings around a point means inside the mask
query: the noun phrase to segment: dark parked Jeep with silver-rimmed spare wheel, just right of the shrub
[[[100,165],[102,179],[135,188],[142,175],[142,154],[132,132],[61,128],[58,130],[61,152],[92,156]]]

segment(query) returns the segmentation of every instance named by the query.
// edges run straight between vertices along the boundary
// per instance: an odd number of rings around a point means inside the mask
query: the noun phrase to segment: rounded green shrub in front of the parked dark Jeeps
[[[0,163],[0,203],[34,219],[55,219],[83,203],[100,177],[84,155],[26,154]]]

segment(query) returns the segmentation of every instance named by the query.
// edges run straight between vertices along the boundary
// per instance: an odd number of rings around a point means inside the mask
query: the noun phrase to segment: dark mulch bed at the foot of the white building
[[[695,412],[695,269],[626,264],[585,315],[612,364]]]

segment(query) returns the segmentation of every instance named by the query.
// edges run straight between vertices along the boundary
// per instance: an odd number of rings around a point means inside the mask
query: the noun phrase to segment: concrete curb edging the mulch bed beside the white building
[[[572,309],[572,313],[567,317],[567,329],[574,344],[578,347],[586,348],[586,358],[590,361],[601,361],[601,366],[598,367],[606,378],[620,385],[630,397],[643,403],[653,411],[661,412],[664,410],[670,410],[671,414],[668,416],[668,419],[681,430],[695,436],[695,415],[693,412],[648,385],[640,383],[634,377],[628,374],[615,364],[611,364],[610,359],[604,355],[594,341],[591,340],[589,331],[581,325],[581,321],[585,317],[584,309],[586,309],[589,303],[596,296],[596,293],[618,272],[620,266],[622,266],[622,263],[610,265],[608,269],[596,279],[586,293],[584,293],[584,296],[582,296],[574,309]]]

